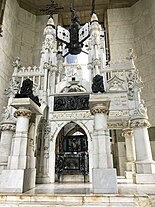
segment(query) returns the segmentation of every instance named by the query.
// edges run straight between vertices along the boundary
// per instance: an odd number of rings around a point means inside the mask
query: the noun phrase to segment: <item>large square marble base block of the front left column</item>
[[[23,193],[35,187],[36,169],[3,170],[0,192]]]

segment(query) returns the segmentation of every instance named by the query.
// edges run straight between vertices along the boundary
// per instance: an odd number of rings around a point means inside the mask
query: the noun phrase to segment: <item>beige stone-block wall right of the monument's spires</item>
[[[127,57],[129,48],[144,82],[142,97],[155,126],[155,1],[139,0],[130,8],[108,10],[108,31],[112,61]]]

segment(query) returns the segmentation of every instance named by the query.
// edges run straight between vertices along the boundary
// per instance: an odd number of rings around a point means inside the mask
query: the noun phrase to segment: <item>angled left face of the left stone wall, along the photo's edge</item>
[[[18,24],[18,5],[15,0],[8,0],[6,2],[5,8],[3,20],[3,37],[0,37],[0,106],[6,105],[4,89],[7,87],[9,78],[12,74],[13,57],[17,54],[15,42]],[[0,114],[1,113],[2,107],[0,107]]]

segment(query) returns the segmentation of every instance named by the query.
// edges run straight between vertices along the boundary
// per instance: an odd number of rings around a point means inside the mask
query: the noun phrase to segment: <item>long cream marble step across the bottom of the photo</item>
[[[0,194],[0,207],[155,207],[155,195]]]

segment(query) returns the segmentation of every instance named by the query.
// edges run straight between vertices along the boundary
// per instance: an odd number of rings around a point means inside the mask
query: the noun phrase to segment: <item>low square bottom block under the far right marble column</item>
[[[134,174],[133,183],[136,184],[155,184],[155,174]]]

